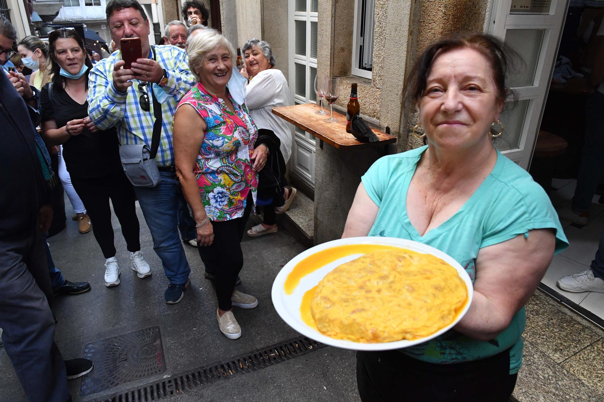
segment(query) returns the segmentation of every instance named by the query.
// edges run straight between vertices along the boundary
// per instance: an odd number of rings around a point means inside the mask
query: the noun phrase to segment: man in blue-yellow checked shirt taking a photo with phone
[[[149,19],[136,0],[111,0],[106,7],[111,39],[140,37],[143,59],[122,68],[121,51],[95,64],[88,78],[88,114],[92,123],[105,130],[115,126],[120,144],[152,143],[152,93],[161,107],[161,136],[155,161],[161,181],[155,187],[134,187],[153,237],[153,249],[170,281],[164,298],[178,303],[187,289],[190,273],[178,235],[178,200],[172,117],[181,98],[195,83],[184,49],[171,45],[149,45]]]

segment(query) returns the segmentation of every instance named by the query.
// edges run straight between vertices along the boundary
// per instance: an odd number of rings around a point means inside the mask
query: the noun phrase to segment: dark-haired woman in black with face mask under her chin
[[[88,71],[92,64],[74,30],[60,29],[48,36],[53,80],[42,89],[42,134],[51,145],[63,145],[71,182],[88,210],[92,231],[107,259],[105,286],[120,284],[115,260],[114,232],[109,199],[130,251],[130,266],[139,278],[151,275],[143,259],[132,185],[121,167],[115,129],[98,130],[88,116]]]

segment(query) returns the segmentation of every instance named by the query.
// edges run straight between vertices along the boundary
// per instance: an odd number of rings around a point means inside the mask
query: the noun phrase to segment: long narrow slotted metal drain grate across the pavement
[[[234,375],[257,371],[277,363],[324,348],[327,345],[306,337],[298,337],[262,349],[240,354],[231,359],[173,375],[166,380],[155,381],[130,391],[89,402],[150,402],[160,398],[178,397],[216,381],[228,380]]]

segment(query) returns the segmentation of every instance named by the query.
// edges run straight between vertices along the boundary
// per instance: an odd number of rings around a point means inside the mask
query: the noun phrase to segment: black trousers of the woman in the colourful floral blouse
[[[211,222],[214,229],[214,242],[210,246],[198,246],[199,257],[204,262],[205,270],[214,274],[214,286],[220,310],[231,310],[231,295],[235,289],[237,275],[243,267],[241,239],[245,224],[248,223],[254,200],[248,194],[243,216],[221,222]],[[206,224],[207,225],[207,224]]]

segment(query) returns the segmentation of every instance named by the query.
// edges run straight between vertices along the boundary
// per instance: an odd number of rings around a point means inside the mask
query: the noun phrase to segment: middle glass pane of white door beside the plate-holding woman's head
[[[545,30],[507,30],[506,44],[518,52],[526,68],[510,78],[510,86],[533,85]]]

